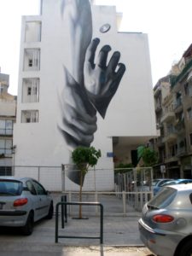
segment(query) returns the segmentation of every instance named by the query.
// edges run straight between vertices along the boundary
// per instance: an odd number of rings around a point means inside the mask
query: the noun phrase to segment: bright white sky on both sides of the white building
[[[0,67],[17,95],[22,15],[38,15],[39,0],[0,0]],[[96,0],[123,13],[121,31],[148,34],[153,85],[192,44],[191,0]]]

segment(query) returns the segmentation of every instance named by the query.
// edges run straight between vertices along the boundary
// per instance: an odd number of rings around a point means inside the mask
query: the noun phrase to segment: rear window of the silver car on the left
[[[22,191],[22,183],[20,183],[20,181],[0,179],[0,196],[20,195],[21,191]]]

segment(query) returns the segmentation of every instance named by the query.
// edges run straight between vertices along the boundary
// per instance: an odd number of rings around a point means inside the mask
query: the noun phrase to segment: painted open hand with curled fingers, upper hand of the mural
[[[125,65],[119,63],[120,53],[115,51],[108,62],[109,45],[104,45],[94,63],[99,38],[90,43],[84,60],[84,88],[97,111],[105,117],[108,104],[119,87],[125,73]]]

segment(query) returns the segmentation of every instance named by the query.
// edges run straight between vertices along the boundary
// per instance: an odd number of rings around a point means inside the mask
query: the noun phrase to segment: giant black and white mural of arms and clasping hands
[[[97,130],[96,114],[105,119],[125,65],[120,63],[119,51],[114,51],[108,59],[113,51],[110,42],[101,45],[101,38],[93,37],[89,0],[62,0],[61,19],[66,20],[70,33],[70,45],[64,47],[69,49],[73,61],[70,69],[66,62],[62,67],[64,84],[58,95],[61,108],[58,128],[72,151],[78,146],[90,147]],[[101,37],[110,27],[108,23],[100,27]],[[75,182],[74,176],[69,178]]]

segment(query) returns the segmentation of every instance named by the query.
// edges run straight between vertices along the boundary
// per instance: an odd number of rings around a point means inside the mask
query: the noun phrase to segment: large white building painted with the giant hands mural
[[[78,10],[71,13],[72,9],[67,9],[71,2],[43,0],[40,15],[22,19],[15,174],[37,177],[32,166],[50,166],[54,170],[56,166],[68,165],[74,145],[90,144],[102,151],[96,166],[102,171],[96,172],[96,184],[90,182],[93,177],[88,173],[84,189],[96,186],[96,189],[113,190],[113,159],[116,163],[131,163],[137,147],[156,136],[148,36],[140,32],[118,32],[119,15],[112,6],[92,5],[90,22],[89,7],[84,7],[87,2],[82,0],[82,12],[76,17]],[[84,15],[87,15],[85,20]],[[73,22],[68,25],[70,19]],[[84,58],[78,50],[84,49],[81,44],[89,35],[100,38],[100,44],[98,39],[93,40]],[[102,48],[103,45],[106,46]],[[101,58],[98,58],[100,49]],[[105,81],[105,62],[110,58],[112,74],[108,78],[115,78],[120,67],[121,74],[113,80],[115,83],[118,80],[119,88],[113,90],[117,86],[114,83],[108,94],[102,87],[100,92],[95,91],[101,94],[94,95],[96,76],[101,73],[99,83]],[[78,83],[79,69],[77,76],[74,72],[76,66],[84,72],[83,88]],[[84,71],[82,67],[89,68]],[[98,73],[94,73],[96,70]],[[101,100],[102,93],[106,94],[104,100]],[[40,176],[49,189],[61,189],[61,168],[55,168],[52,174],[44,168]],[[66,177],[65,189],[79,187]]]

